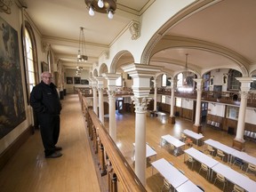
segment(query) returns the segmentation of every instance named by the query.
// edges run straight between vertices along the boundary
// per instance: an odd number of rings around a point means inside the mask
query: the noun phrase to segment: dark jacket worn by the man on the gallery
[[[30,93],[30,105],[37,114],[60,115],[61,104],[54,84],[36,84]]]

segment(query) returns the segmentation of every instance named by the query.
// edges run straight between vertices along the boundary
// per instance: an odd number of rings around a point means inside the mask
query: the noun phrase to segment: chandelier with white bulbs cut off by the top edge
[[[116,0],[84,0],[84,3],[89,9],[89,14],[94,15],[94,12],[107,13],[108,18],[113,19],[116,11]]]

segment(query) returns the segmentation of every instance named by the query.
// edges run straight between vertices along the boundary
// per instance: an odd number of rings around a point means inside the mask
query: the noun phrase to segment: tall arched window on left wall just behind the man
[[[36,38],[33,33],[33,29],[29,25],[28,21],[25,23],[25,30],[22,33],[23,39],[23,54],[24,54],[24,64],[25,64],[25,76],[26,76],[26,90],[27,99],[29,100],[30,92],[33,87],[38,83],[37,78],[37,57],[36,57]]]

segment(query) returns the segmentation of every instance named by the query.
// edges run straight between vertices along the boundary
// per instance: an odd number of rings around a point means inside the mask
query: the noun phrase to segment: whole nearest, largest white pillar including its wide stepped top
[[[132,76],[132,91],[135,102],[135,174],[142,185],[146,186],[146,113],[148,95],[150,92],[150,78],[160,72],[156,66],[131,64],[123,67],[124,72]]]

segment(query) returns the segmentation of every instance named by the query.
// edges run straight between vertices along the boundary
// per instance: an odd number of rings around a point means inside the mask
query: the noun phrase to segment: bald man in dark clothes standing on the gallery
[[[62,148],[56,146],[60,135],[60,98],[55,84],[52,84],[52,74],[44,71],[41,79],[30,93],[30,105],[40,125],[45,158],[56,158],[62,156]]]

